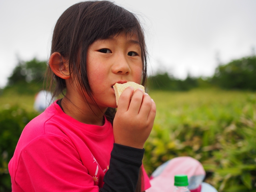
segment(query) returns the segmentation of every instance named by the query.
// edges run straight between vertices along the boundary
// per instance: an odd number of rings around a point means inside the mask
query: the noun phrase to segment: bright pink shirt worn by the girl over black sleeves
[[[98,192],[113,144],[112,124],[106,118],[103,126],[83,124],[54,102],[20,136],[8,165],[12,191]],[[143,173],[145,190],[150,184]]]

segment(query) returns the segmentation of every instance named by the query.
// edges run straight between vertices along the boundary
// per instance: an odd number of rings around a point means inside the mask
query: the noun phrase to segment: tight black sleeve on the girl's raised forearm
[[[144,149],[114,144],[109,170],[100,192],[134,192],[142,165]]]

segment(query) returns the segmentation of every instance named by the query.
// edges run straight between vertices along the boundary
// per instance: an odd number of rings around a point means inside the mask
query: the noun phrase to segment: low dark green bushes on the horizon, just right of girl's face
[[[187,91],[198,86],[196,79],[188,76],[185,80],[178,80],[164,74],[156,74],[148,78],[149,88],[152,90]]]

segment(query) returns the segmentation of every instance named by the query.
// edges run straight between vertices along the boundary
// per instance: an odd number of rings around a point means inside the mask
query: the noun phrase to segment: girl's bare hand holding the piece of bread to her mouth
[[[143,148],[156,116],[156,104],[148,94],[133,87],[122,92],[113,122],[115,143]],[[132,99],[131,99],[132,96]]]

